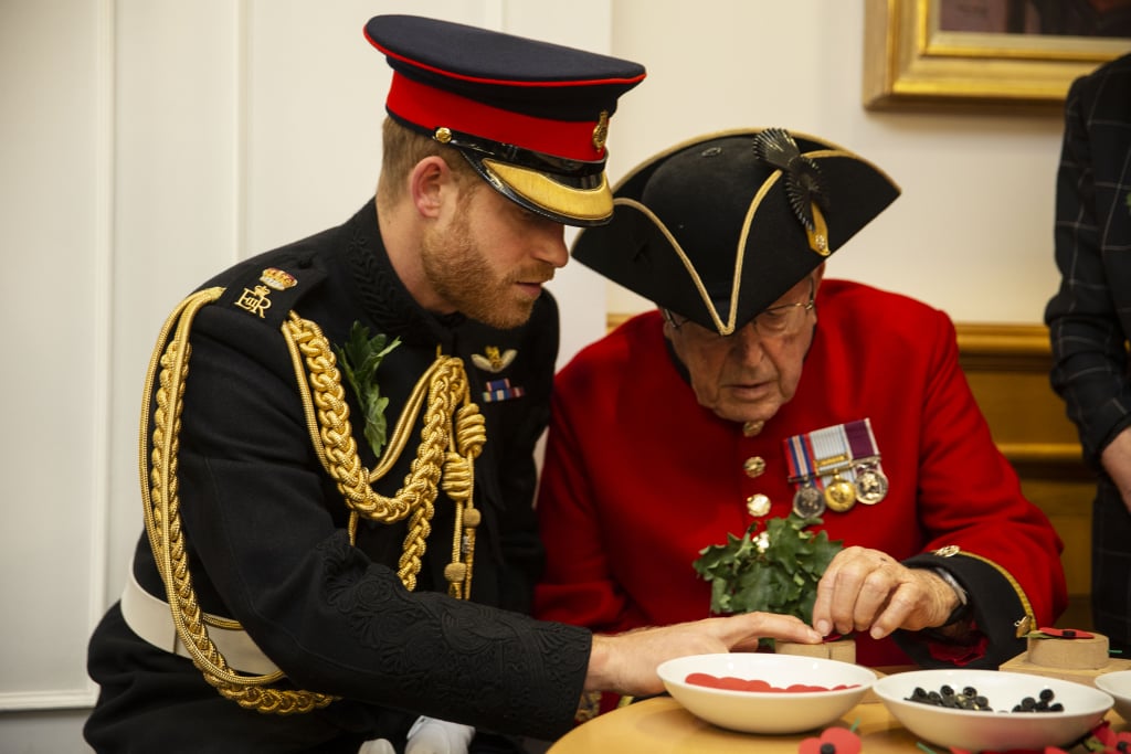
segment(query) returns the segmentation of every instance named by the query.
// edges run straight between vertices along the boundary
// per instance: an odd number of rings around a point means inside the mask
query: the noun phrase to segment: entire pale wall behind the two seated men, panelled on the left
[[[860,151],[905,196],[830,275],[977,322],[1038,322],[1055,287],[1060,120],[864,112],[863,0],[0,0],[0,751],[85,751],[85,642],[140,531],[138,401],[169,309],[371,196],[388,68],[361,27],[377,12],[644,62],[613,119],[614,180],[736,125]],[[606,311],[646,306],[580,266],[552,288],[563,359]]]

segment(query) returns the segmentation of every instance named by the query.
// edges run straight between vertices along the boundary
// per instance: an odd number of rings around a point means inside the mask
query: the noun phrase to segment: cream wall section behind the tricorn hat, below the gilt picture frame
[[[1061,119],[864,111],[863,5],[616,0],[614,47],[649,76],[613,120],[613,172],[726,128],[824,137],[875,162],[904,190],[829,260],[827,275],[918,296],[960,321],[1039,322],[1057,284]],[[619,287],[608,305],[647,307]]]

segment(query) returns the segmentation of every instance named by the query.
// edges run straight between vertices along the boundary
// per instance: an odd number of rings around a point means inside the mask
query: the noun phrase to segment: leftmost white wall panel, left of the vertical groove
[[[104,8],[32,5],[0,2],[0,708],[89,699],[113,462]]]

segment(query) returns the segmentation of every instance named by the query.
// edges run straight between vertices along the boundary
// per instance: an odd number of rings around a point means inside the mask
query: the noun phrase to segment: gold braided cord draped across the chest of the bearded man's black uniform
[[[472,468],[486,440],[486,431],[478,406],[470,401],[463,361],[437,355],[413,388],[378,467],[368,471],[357,456],[349,407],[329,341],[314,322],[294,312],[284,323],[283,335],[291,349],[314,450],[351,509],[351,541],[356,541],[360,517],[382,523],[407,518],[408,531],[397,577],[407,589],[415,589],[432,530],[438,484],[443,477],[444,491],[456,504],[452,560],[444,573],[449,593],[466,599],[470,589],[474,528],[478,525],[478,511],[472,506]],[[392,497],[381,495],[372,483],[383,478],[400,458],[422,408],[421,443],[404,486]]]

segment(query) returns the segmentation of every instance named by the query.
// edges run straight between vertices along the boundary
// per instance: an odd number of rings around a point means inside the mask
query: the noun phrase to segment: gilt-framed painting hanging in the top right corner
[[[1059,111],[1131,52],[1131,0],[865,0],[869,110]]]

